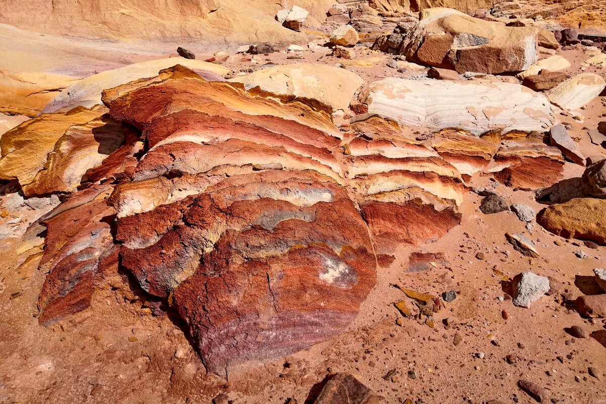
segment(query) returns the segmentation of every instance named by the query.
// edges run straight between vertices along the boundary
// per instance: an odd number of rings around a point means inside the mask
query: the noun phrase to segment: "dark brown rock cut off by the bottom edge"
[[[322,388],[314,404],[378,404],[367,386],[348,373],[335,373]]]

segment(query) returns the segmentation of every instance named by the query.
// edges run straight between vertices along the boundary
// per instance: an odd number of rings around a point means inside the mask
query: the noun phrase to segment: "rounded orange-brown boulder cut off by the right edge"
[[[591,240],[606,245],[606,200],[574,198],[554,204],[539,214],[538,223],[567,239]]]

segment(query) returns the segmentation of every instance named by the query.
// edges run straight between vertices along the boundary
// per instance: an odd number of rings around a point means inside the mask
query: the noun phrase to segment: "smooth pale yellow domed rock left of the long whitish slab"
[[[259,86],[271,93],[317,99],[335,110],[345,110],[362,85],[356,73],[321,64],[268,67],[228,81],[242,83],[247,89]]]

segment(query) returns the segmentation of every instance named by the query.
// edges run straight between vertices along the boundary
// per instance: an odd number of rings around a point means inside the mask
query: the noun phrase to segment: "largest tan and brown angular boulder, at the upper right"
[[[538,30],[506,27],[452,8],[429,8],[405,36],[399,53],[421,64],[459,73],[522,71],[538,59]]]

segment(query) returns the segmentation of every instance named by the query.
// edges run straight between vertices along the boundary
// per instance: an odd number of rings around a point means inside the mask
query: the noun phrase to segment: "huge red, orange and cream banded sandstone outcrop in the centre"
[[[376,254],[459,224],[457,167],[492,153],[476,138],[450,148],[446,134],[434,149],[376,117],[345,136],[316,99],[181,66],[102,99],[108,115],[43,114],[2,137],[5,179],[62,194],[40,219],[39,320],[84,310],[124,270],[187,323],[216,373],[341,332],[375,284]]]

